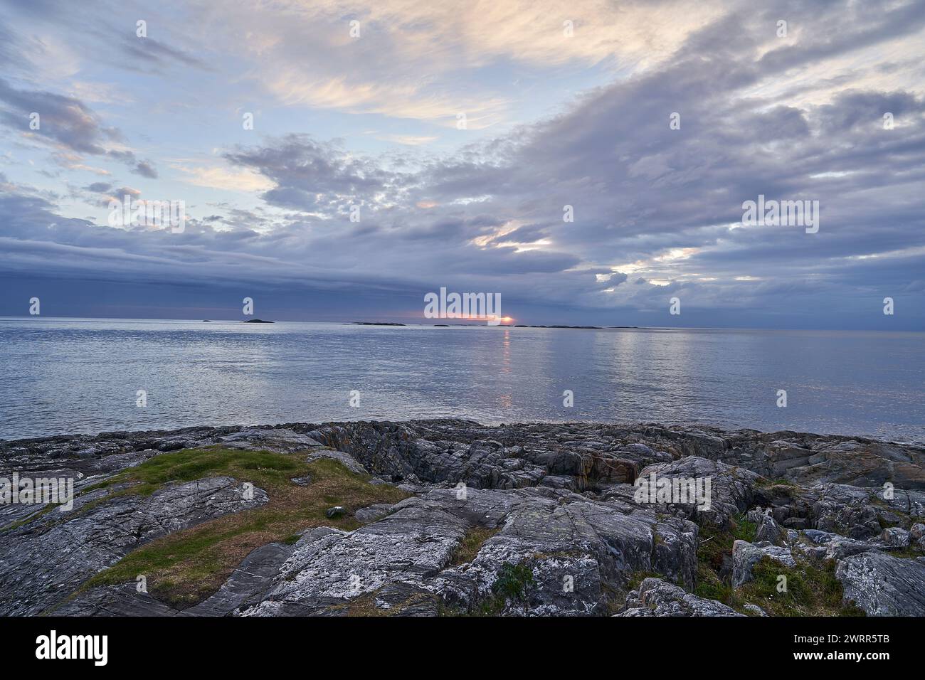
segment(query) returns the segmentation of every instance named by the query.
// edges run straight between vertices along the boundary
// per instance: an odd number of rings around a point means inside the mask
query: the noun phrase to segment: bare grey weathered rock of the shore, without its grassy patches
[[[357,510],[363,526],[355,531],[315,526],[296,531],[294,545],[257,547],[216,593],[184,612],[130,583],[69,598],[145,541],[266,502],[258,489],[253,503],[241,503],[240,484],[228,477],[168,485],[151,497],[99,486],[163,451],[214,445],[338,461],[412,497]],[[706,615],[723,605],[685,590],[697,579],[699,532],[728,531],[741,513],[756,538],[737,543],[726,565],[715,566],[718,575],[741,584],[761,557],[791,564],[796,555],[855,571],[869,560],[884,582],[903,584],[908,565],[925,560],[897,566],[889,560],[898,558],[879,556],[925,547],[923,464],[920,446],[869,439],[458,419],[0,441],[0,476],[65,476],[78,491],[64,515],[0,506],[0,613],[604,615],[623,607],[626,584],[648,572],[660,581],[631,593],[635,605],[624,615]],[[652,474],[673,484],[709,479],[709,507],[680,497],[640,501],[635,481]],[[458,486],[466,489],[459,498]],[[332,516],[345,517],[338,508]],[[912,528],[906,537],[882,526]]]

